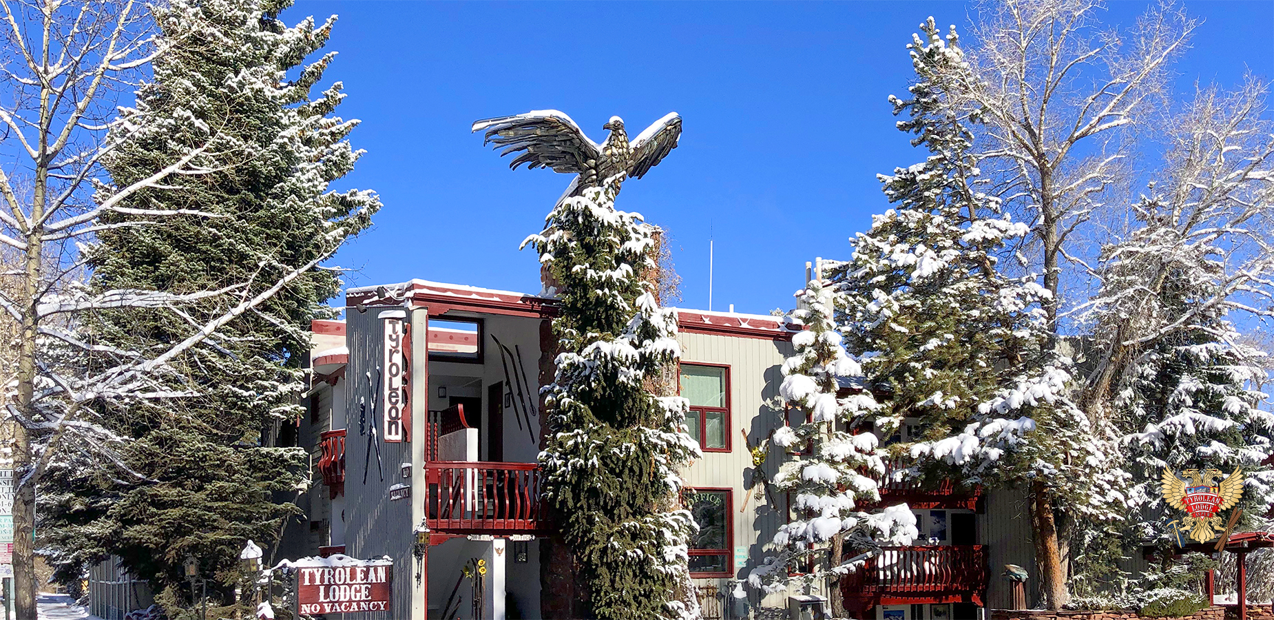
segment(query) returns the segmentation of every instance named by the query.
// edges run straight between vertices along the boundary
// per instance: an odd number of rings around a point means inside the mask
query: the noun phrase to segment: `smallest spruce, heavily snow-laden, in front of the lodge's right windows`
[[[908,545],[916,518],[906,504],[866,512],[880,500],[877,482],[884,464],[866,425],[878,404],[870,392],[838,398],[840,379],[860,375],[841,344],[833,323],[833,290],[819,279],[798,292],[799,307],[790,320],[808,329],[792,336],[792,356],[784,361],[780,394],[804,413],[804,422],[778,427],[773,443],[799,448],[804,455],[785,462],[773,485],[791,496],[791,520],[778,528],[776,554],[748,574],[748,583],[764,592],[786,589],[789,573],[831,592],[838,606],[840,582],[879,552],[882,545]],[[744,596],[740,587],[735,596]]]

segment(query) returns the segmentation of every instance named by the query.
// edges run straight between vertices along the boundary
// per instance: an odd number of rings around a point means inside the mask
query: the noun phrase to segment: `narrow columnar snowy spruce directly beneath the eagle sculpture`
[[[697,619],[680,467],[699,457],[685,401],[652,392],[676,362],[676,314],[647,276],[654,227],[614,208],[618,184],[558,203],[531,235],[558,286],[561,353],[544,388],[540,453],[554,523],[575,557],[586,617]]]

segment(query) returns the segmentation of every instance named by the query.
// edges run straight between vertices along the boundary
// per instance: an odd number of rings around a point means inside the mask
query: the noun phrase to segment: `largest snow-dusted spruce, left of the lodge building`
[[[197,175],[143,189],[121,207],[197,210],[147,226],[127,210],[103,214],[93,249],[97,291],[177,295],[238,286],[233,299],[171,307],[108,309],[82,332],[98,346],[153,355],[197,332],[240,296],[252,297],[299,265],[331,256],[369,225],[377,199],[335,193],[359,153],[357,124],[331,115],[344,97],[312,87],[333,57],[306,63],[326,43],[333,19],[288,27],[290,5],[259,0],[173,0],[154,9],[161,54],[153,78],[112,131],[104,168],[127,186],[155,162],[208,142],[217,153]],[[103,190],[108,193],[110,190]],[[56,550],[59,578],[116,555],[162,600],[187,601],[182,561],[200,561],[209,593],[229,602],[246,540],[278,540],[308,483],[299,448],[269,445],[271,429],[296,424],[306,385],[310,321],[339,290],[338,273],[311,267],[278,295],[223,325],[205,346],[171,364],[183,398],[94,403],[101,425],[124,441],[118,471],[89,467],[83,454],[55,461],[42,485],[41,540]]]

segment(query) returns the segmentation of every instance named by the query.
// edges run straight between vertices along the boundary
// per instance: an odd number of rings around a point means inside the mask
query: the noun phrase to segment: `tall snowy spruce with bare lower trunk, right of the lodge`
[[[1105,476],[1107,439],[1068,399],[1069,360],[1049,346],[1041,309],[1049,292],[1001,270],[999,256],[1029,231],[977,189],[970,151],[981,108],[949,97],[972,79],[957,34],[944,40],[933,18],[921,31],[908,45],[911,97],[891,101],[908,116],[898,129],[929,157],[880,176],[896,208],[852,240],[852,260],[832,265],[841,329],[883,394],[879,432],[903,418],[921,431],[894,448],[916,459],[912,473],[1022,487],[1037,555],[1057,555],[1055,501],[1108,517],[1105,504],[1119,499]]]

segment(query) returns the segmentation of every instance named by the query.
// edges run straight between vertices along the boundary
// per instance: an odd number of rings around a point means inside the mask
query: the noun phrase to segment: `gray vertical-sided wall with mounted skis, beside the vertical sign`
[[[382,309],[368,307],[366,313],[357,309],[347,310],[347,342],[349,346],[349,366],[345,370],[348,389],[345,390],[347,436],[345,436],[345,554],[352,557],[394,559],[394,601],[389,612],[347,614],[345,617],[390,619],[409,617],[412,609],[412,586],[415,579],[415,561],[412,557],[412,537],[415,527],[412,523],[412,501],[409,498],[390,501],[386,490],[404,482],[399,466],[412,461],[409,443],[389,444],[377,438],[381,448],[381,471],[377,472],[376,449],[366,461],[368,436],[373,426],[380,424],[380,395],[376,389],[377,367],[382,355],[383,328],[377,319]],[[367,375],[372,384],[368,385]],[[358,434],[359,406],[367,404],[367,424],[364,435]],[[372,413],[372,404],[376,412]],[[377,426],[377,432],[380,431]],[[413,432],[417,432],[413,429]],[[414,438],[413,438],[414,439]],[[364,462],[367,466],[364,467]],[[366,475],[366,483],[364,483]]]

